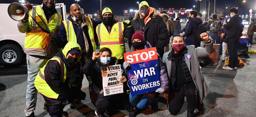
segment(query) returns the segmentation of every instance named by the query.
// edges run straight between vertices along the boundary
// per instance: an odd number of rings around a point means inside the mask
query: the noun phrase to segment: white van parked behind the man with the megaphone
[[[26,57],[24,50],[25,33],[18,31],[17,24],[10,18],[7,8],[10,4],[0,4],[0,64],[4,66],[19,65],[21,59]],[[66,7],[64,3],[57,3],[55,8],[66,20]]]

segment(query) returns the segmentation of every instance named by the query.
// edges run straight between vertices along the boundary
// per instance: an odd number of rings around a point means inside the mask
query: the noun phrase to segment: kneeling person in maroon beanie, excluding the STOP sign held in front
[[[152,48],[152,46],[149,44],[149,42],[144,40],[143,32],[142,31],[136,31],[132,35],[132,47],[130,51],[136,51],[136,50],[143,50],[147,48]],[[131,112],[129,113],[129,117],[135,117],[138,114],[137,108],[144,109],[151,106],[151,110],[155,113],[158,111],[158,105],[157,100],[159,93],[163,93],[168,89],[168,77],[166,73],[165,65],[163,64],[160,56],[158,56],[158,61],[160,64],[160,82],[161,82],[161,88],[158,88],[156,91],[149,92],[146,94],[140,94],[136,96],[129,95],[129,101],[132,107]],[[130,67],[129,62],[124,62],[124,69],[127,69]],[[128,68],[129,69],[129,68]]]

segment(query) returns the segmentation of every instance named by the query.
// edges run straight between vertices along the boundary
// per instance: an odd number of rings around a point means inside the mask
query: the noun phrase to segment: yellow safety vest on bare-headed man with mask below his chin
[[[96,44],[95,44],[95,40],[94,40],[93,23],[92,23],[91,19],[87,16],[85,16],[85,20],[87,22],[88,33],[89,33],[89,36],[90,36],[91,43],[93,45],[93,52],[94,52],[95,49],[96,49]],[[65,26],[65,29],[66,29],[68,42],[72,41],[72,42],[77,43],[77,36],[76,36],[75,31],[74,31],[74,27],[73,27],[72,22],[70,20],[65,20],[65,21],[63,21],[63,23],[64,23],[64,26]]]

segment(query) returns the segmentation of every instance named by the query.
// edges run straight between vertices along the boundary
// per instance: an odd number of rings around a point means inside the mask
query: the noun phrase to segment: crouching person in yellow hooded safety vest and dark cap
[[[61,117],[65,105],[86,97],[78,85],[82,80],[79,77],[80,58],[80,46],[68,42],[62,51],[46,62],[35,78],[35,87],[49,106],[51,117]]]

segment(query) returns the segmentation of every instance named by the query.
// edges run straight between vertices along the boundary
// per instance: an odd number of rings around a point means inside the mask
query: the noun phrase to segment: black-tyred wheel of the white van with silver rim
[[[22,59],[21,49],[13,44],[0,48],[0,64],[5,67],[19,65]]]

